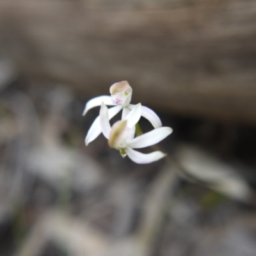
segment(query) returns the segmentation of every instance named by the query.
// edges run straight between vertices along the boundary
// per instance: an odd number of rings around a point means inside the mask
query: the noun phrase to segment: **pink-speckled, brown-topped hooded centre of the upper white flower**
[[[111,85],[110,94],[114,104],[126,107],[131,102],[132,88],[127,81],[121,81]]]

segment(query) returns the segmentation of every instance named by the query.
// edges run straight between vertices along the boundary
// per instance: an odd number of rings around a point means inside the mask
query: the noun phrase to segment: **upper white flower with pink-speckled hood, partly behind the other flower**
[[[115,106],[108,110],[109,120],[113,118],[118,112],[122,110],[122,120],[129,114],[134,108],[133,104],[130,104],[132,97],[132,88],[127,81],[121,81],[111,85],[110,87],[111,96],[103,95],[95,97],[86,103],[84,108],[83,116],[86,115],[89,109],[97,106],[101,106],[102,102],[109,106]],[[160,118],[156,115],[152,109],[145,106],[141,106],[141,116],[147,118],[147,120],[153,125],[154,128],[162,126]],[[140,119],[140,118],[139,118]],[[95,140],[101,133],[100,118],[99,116],[95,119],[92,126],[90,127],[86,138],[86,146]]]

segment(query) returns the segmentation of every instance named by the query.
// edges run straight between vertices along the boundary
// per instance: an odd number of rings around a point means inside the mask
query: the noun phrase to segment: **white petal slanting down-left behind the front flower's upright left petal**
[[[115,106],[113,108],[108,109],[109,120],[113,118],[113,116],[115,116],[121,109],[122,109],[122,106]],[[90,142],[95,140],[100,135],[100,133],[101,133],[100,116],[97,116],[92,126],[90,127],[89,131],[87,132],[87,135],[85,138],[85,145],[87,146]]]

